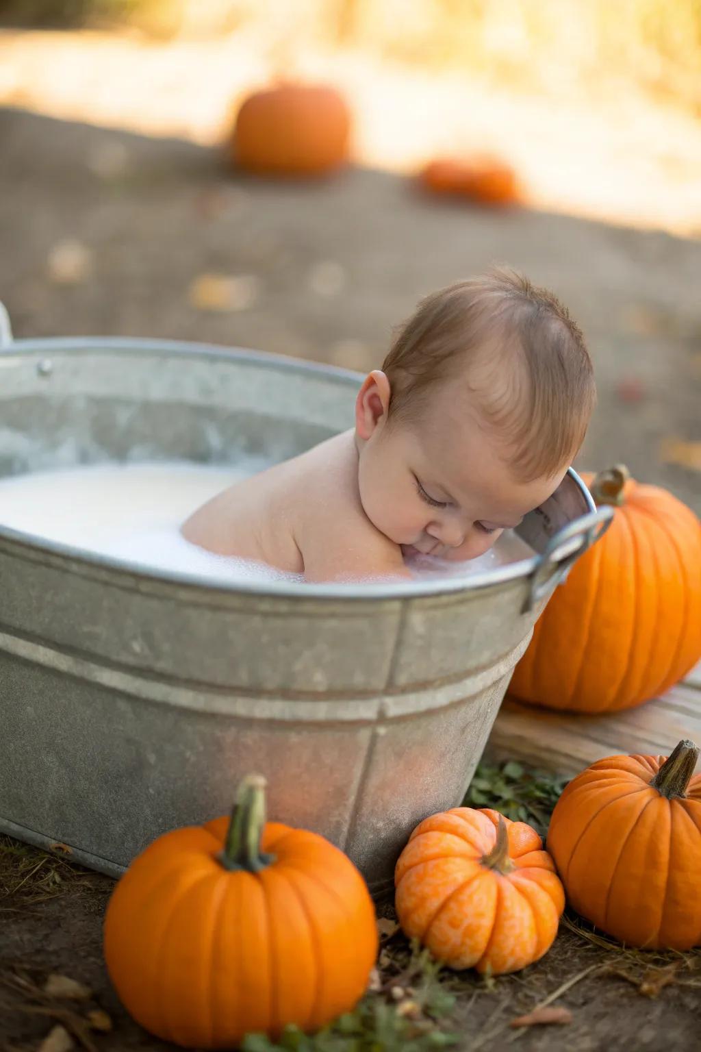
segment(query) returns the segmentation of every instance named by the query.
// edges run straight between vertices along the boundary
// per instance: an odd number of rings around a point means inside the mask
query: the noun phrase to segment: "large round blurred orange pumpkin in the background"
[[[236,116],[232,154],[261,176],[322,176],[348,160],[350,114],[332,87],[279,84],[249,95]]]

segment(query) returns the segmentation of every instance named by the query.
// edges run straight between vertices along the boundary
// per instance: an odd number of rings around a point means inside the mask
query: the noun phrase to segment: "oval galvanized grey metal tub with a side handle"
[[[357,385],[244,350],[5,329],[0,476],[275,462],[348,426]],[[461,800],[535,619],[607,515],[571,472],[519,528],[532,559],[354,586],[213,586],[0,525],[0,829],[117,874],[260,771],[270,814],[382,895],[413,826]]]

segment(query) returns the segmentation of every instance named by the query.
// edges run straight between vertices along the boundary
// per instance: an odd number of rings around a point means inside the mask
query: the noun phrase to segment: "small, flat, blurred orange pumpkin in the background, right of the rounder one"
[[[433,194],[465,197],[479,204],[513,204],[519,197],[513,168],[492,157],[439,158],[426,165],[419,181]]]

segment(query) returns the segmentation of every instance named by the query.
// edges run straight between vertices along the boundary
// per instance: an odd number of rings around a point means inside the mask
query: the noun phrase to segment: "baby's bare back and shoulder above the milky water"
[[[398,545],[363,510],[353,431],[234,483],[199,508],[182,533],[209,551],[310,582],[409,575]]]

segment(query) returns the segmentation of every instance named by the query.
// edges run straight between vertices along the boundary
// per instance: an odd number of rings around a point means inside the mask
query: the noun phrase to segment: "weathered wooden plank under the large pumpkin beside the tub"
[[[662,697],[607,715],[555,712],[507,697],[486,758],[520,760],[571,776],[620,752],[667,755],[683,737],[701,745],[701,665]]]

